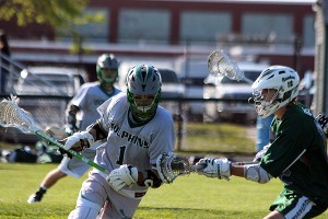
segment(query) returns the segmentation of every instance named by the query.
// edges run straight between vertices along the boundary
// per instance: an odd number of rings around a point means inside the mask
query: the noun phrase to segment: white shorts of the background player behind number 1
[[[85,149],[81,154],[87,158],[89,160],[93,161],[96,154],[96,148],[98,148],[104,142],[105,140],[96,141],[94,145],[92,145],[91,148]],[[61,160],[58,166],[58,169],[62,173],[73,177],[81,177],[90,168],[91,165],[74,157],[72,159],[68,157],[63,157],[63,159]]]

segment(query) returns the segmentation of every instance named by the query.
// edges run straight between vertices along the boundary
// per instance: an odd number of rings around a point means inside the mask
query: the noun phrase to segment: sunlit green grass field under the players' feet
[[[86,175],[66,177],[47,192],[42,203],[26,203],[45,174],[56,166],[0,163],[0,218],[67,218]],[[278,180],[260,185],[238,177],[227,182],[190,174],[150,189],[134,218],[262,218],[280,189]],[[328,211],[318,218],[328,218]]]

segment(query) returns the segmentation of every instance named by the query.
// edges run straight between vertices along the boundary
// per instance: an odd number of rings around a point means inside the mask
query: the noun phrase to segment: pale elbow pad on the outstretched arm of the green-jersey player
[[[272,177],[259,164],[244,165],[244,176],[248,181],[254,181],[260,184],[268,183]]]

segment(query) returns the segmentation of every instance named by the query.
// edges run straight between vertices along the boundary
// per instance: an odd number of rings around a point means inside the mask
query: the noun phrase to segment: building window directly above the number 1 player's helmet
[[[119,43],[168,44],[168,11],[122,9],[118,20]]]

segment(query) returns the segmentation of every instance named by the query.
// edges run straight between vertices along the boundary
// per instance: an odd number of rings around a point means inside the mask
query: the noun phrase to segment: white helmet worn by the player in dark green
[[[277,110],[288,105],[298,95],[300,77],[285,66],[271,66],[263,70],[253,83],[253,104],[260,117],[268,117]],[[268,102],[262,100],[263,89],[274,89],[277,93]]]

